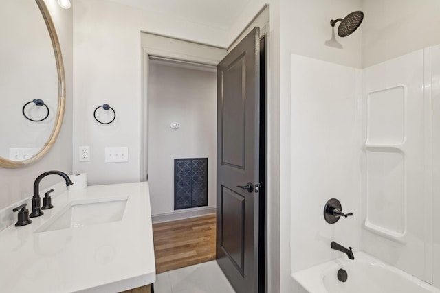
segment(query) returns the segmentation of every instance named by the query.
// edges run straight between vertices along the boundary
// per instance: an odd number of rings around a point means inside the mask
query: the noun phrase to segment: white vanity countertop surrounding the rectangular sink
[[[39,232],[69,202],[118,196],[128,196],[120,221]],[[148,183],[65,191],[52,204],[32,224],[0,232],[1,292],[109,293],[155,282]]]

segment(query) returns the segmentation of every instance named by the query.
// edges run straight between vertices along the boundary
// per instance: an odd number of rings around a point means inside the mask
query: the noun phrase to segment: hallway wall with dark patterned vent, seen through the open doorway
[[[149,56],[148,182],[151,213],[213,213],[216,185],[215,67]],[[175,220],[175,219],[170,219]]]

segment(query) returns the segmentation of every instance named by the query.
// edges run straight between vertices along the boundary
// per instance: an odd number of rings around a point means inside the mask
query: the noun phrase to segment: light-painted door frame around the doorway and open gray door
[[[265,15],[263,15],[265,14]],[[262,16],[263,15],[263,16]],[[262,16],[262,17],[260,17]],[[190,40],[184,40],[184,39],[180,39],[180,38],[173,38],[170,36],[164,36],[164,35],[160,35],[160,34],[155,34],[155,33],[151,33],[151,32],[146,32],[143,31],[141,32],[141,35],[143,34],[148,34],[149,36],[152,36],[152,42],[151,44],[148,44],[148,46],[143,46],[142,45],[142,41],[141,41],[141,47],[142,47],[142,89],[141,89],[141,117],[142,117],[142,125],[141,125],[141,170],[140,170],[140,180],[141,181],[147,181],[148,180],[148,68],[149,68],[149,60],[150,60],[150,56],[157,56],[157,57],[162,57],[162,58],[170,58],[170,59],[175,59],[175,60],[183,60],[186,62],[193,62],[195,64],[198,65],[212,65],[217,67],[217,65],[219,64],[219,62],[221,60],[223,60],[223,58],[228,54],[228,51],[231,50],[234,45],[236,45],[237,42],[239,42],[240,38],[242,35],[245,35],[248,30],[252,30],[252,27],[254,26],[259,26],[260,27],[260,33],[261,33],[261,38],[265,38],[265,91],[264,91],[264,104],[265,104],[265,168],[263,170],[265,176],[265,184],[263,185],[263,190],[264,190],[264,233],[262,235],[262,237],[264,237],[263,239],[263,250],[264,250],[264,258],[262,259],[262,261],[264,261],[264,270],[262,270],[261,274],[263,274],[261,277],[263,277],[263,287],[264,287],[264,292],[268,292],[268,287],[270,286],[270,278],[275,278],[276,276],[279,277],[279,272],[274,272],[272,273],[274,276],[271,276],[271,274],[269,273],[269,269],[270,266],[273,268],[274,266],[276,266],[276,264],[279,264],[279,259],[273,259],[272,261],[270,261],[270,256],[269,256],[269,251],[268,248],[270,249],[270,246],[275,246],[275,250],[279,249],[276,248],[276,244],[279,244],[279,239],[278,242],[271,242],[268,239],[269,233],[268,233],[268,226],[270,224],[273,225],[273,222],[269,222],[268,221],[268,213],[270,213],[269,209],[274,209],[273,207],[270,207],[270,202],[268,200],[268,194],[269,191],[273,191],[274,187],[270,186],[271,185],[271,178],[270,178],[270,172],[269,172],[269,165],[268,165],[268,159],[269,159],[269,152],[271,149],[271,145],[268,141],[268,137],[271,136],[270,134],[270,113],[273,113],[274,110],[270,108],[270,102],[268,101],[268,96],[270,95],[270,93],[272,93],[272,89],[271,89],[271,82],[270,82],[270,75],[269,75],[269,70],[270,70],[270,60],[269,60],[269,56],[271,56],[270,54],[270,45],[269,45],[269,27],[270,27],[270,19],[269,19],[269,5],[265,4],[263,5],[263,8],[261,8],[261,10],[256,14],[256,16],[254,16],[254,19],[252,19],[250,21],[250,23],[248,23],[248,25],[246,25],[246,27],[243,29],[243,31],[241,32],[241,34],[239,34],[239,36],[237,36],[232,43],[230,44],[230,46],[228,46],[228,48],[225,47],[217,47],[217,46],[212,46],[212,45],[207,45],[207,44],[203,44],[203,43],[197,43],[197,42],[193,42]],[[195,53],[194,50],[188,50],[188,49],[183,49],[183,50],[179,50],[176,49],[176,47],[173,46],[167,46],[166,42],[164,42],[164,39],[166,40],[170,40],[171,42],[183,42],[186,44],[193,44],[193,45],[198,45],[198,46],[202,46],[205,47],[206,49],[208,49],[207,51],[203,51],[197,50],[197,53]],[[173,48],[172,50],[170,50],[170,48]],[[218,54],[214,53],[214,51],[223,51],[223,55],[219,56]],[[272,121],[272,120],[271,120]],[[273,145],[272,145],[273,148]],[[272,183],[273,185],[273,183]],[[272,211],[273,213],[273,211]],[[279,235],[279,234],[278,234]],[[275,244],[275,245],[274,245]],[[273,248],[272,248],[273,249]],[[273,283],[274,281],[272,281]],[[261,284],[259,284],[261,285]],[[279,285],[279,284],[278,284]]]

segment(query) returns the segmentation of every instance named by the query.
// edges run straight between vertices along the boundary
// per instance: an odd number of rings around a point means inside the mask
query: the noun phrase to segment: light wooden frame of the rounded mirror
[[[61,46],[58,40],[58,35],[56,34],[55,25],[52,21],[52,17],[50,16],[50,12],[47,9],[47,6],[44,0],[35,0],[36,4],[39,6],[41,15],[46,23],[47,30],[50,34],[50,40],[52,41],[52,47],[54,49],[55,60],[56,60],[56,71],[58,73],[58,107],[56,110],[55,124],[52,129],[52,133],[50,134],[49,139],[41,150],[32,158],[24,160],[24,161],[12,161],[5,159],[0,156],[0,167],[3,168],[19,168],[25,167],[36,161],[39,161],[47,152],[49,152],[52,145],[54,145],[56,139],[58,138],[58,134],[61,130],[61,125],[63,124],[64,110],[65,110],[65,99],[66,99],[66,88],[65,88],[65,73],[64,73],[64,64],[63,64],[63,56],[61,55]]]

